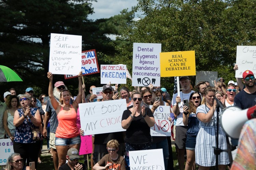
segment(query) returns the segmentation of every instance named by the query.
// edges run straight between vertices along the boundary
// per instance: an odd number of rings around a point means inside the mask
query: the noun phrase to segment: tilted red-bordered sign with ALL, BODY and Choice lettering
[[[84,75],[99,73],[99,65],[95,50],[82,51],[81,70]],[[77,75],[64,75],[65,79],[77,77]]]

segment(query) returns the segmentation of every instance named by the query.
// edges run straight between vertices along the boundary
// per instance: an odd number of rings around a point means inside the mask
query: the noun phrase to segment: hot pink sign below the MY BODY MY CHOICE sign
[[[93,152],[93,141],[91,135],[81,136],[81,147],[79,155],[89,154]]]

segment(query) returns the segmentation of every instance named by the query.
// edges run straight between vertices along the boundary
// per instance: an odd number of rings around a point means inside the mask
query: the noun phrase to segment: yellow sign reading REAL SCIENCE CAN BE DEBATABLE
[[[161,77],[196,75],[195,51],[160,53]]]

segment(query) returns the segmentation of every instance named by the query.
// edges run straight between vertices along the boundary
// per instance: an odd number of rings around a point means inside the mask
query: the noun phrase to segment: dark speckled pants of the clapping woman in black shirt
[[[167,144],[168,146],[168,144]],[[132,143],[125,143],[125,163],[126,163],[126,170],[130,170],[130,160],[129,160],[129,151],[141,151],[141,150],[149,150],[151,148],[151,142],[145,144],[132,144]]]

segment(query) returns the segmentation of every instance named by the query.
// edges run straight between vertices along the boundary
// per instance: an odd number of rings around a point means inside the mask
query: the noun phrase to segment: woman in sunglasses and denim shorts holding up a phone
[[[187,161],[185,170],[196,169],[195,147],[199,131],[199,120],[196,117],[196,109],[201,105],[200,93],[195,91],[189,97],[188,106],[183,107],[183,124],[187,126],[186,152]]]

